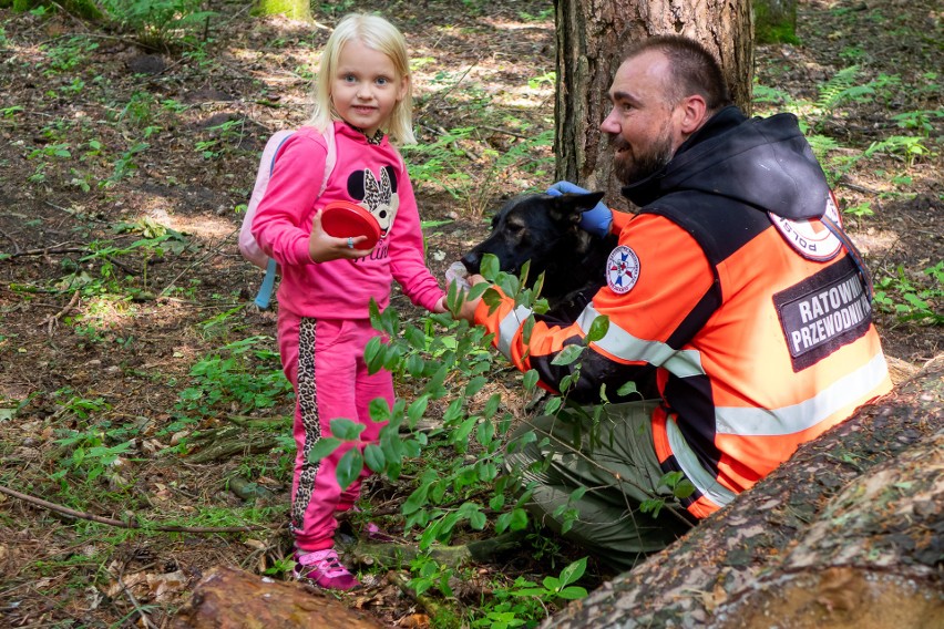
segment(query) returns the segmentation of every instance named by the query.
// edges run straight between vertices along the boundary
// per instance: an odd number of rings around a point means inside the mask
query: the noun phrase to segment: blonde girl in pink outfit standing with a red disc
[[[295,574],[321,587],[351,589],[357,578],[334,547],[336,514],[353,507],[360,477],[338,485],[336,467],[350,447],[377,442],[382,423],[371,421],[370,401],[392,408],[390,373],[368,373],[367,342],[374,299],[390,301],[391,280],[417,306],[444,312],[444,296],[424,264],[420,217],[407,168],[393,144],[415,142],[412,80],[403,35],[378,16],[345,17],[321,53],[309,121],[279,149],[253,234],[281,269],[278,343],[283,369],[297,395],[297,445],[291,488]],[[337,163],[318,196],[334,132]],[[335,238],[321,229],[328,202],[352,202],[380,225],[370,249],[365,237]],[[331,420],[363,427],[360,444],[345,444],[320,462],[308,454],[330,436]]]

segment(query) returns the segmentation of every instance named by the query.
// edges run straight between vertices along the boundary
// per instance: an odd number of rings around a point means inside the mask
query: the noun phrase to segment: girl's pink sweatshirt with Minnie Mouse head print
[[[253,235],[281,271],[279,308],[315,319],[367,319],[370,298],[384,309],[396,279],[413,303],[432,310],[443,291],[425,266],[420,215],[400,154],[386,136],[370,144],[343,122],[335,122],[335,141],[337,163],[318,197],[326,141],[312,127],[289,136],[253,220]],[[311,261],[315,212],[332,200],[359,204],[377,218],[381,238],[369,256]]]

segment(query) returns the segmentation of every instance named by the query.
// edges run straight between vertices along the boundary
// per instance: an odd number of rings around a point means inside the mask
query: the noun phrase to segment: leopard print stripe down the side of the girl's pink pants
[[[301,454],[305,462],[298,476],[298,487],[291,499],[291,533],[302,530],[305,512],[315,491],[315,477],[320,463],[308,461],[311,448],[321,441],[321,423],[318,419],[317,384],[315,382],[315,328],[316,320],[302,318],[298,327],[298,408],[301,411],[301,425],[305,427],[305,446]]]

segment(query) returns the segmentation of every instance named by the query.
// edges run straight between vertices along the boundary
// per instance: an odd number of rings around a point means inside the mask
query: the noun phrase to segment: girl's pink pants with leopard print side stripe
[[[345,443],[318,463],[308,453],[318,441],[331,436],[331,420],[346,417],[365,425],[361,452],[377,443],[386,422],[370,420],[374,398],[393,406],[393,379],[388,371],[368,374],[363,348],[378,334],[369,320],[308,319],[285,310],[278,318],[278,347],[286,378],[295,388],[295,477],[291,482],[291,530],[299,550],[324,550],[334,546],[336,512],[351,508],[363,478],[345,491],[335,470],[341,456],[356,444]]]

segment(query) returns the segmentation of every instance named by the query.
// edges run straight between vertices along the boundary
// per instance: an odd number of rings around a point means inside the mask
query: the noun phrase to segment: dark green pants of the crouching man
[[[694,523],[671,489],[659,483],[664,472],[651,429],[657,404],[607,405],[596,425],[573,411],[540,416],[515,431],[505,457],[509,471],[521,470],[523,482],[533,489],[527,504],[532,516],[618,570],[661,550]],[[517,443],[532,429],[537,440]],[[581,487],[586,493],[568,504]],[[653,497],[665,499],[657,517],[639,511]],[[576,509],[577,517],[561,533],[564,509]]]

